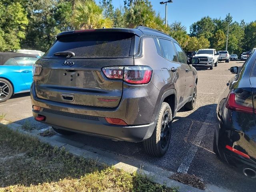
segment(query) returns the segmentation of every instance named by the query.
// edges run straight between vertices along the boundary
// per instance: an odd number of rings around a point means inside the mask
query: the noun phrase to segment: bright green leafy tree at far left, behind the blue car
[[[27,12],[19,2],[0,2],[0,51],[20,48],[28,25]]]

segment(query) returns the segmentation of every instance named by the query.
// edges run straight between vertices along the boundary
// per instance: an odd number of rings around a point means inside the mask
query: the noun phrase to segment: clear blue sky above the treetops
[[[100,0],[96,0],[98,3]],[[153,9],[162,18],[165,18],[165,5],[159,2],[162,0],[151,0]],[[180,21],[189,27],[192,23],[200,20],[204,16],[224,19],[228,13],[233,16],[233,21],[240,23],[242,19],[247,22],[256,20],[256,0],[172,0],[167,7],[168,24]],[[112,0],[114,8],[124,5],[123,0]]]

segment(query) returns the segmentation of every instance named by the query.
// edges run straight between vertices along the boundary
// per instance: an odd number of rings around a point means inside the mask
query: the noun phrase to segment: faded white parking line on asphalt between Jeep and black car
[[[215,111],[216,111],[216,109],[212,108],[210,110],[210,112],[208,113],[202,127],[200,128],[198,134],[196,135],[196,138],[192,142],[193,144],[191,145],[191,147],[188,150],[185,158],[183,159],[182,164],[178,168],[178,172],[180,172],[180,173],[187,173],[188,172],[189,166],[190,166],[192,160],[194,159],[194,156],[195,156],[195,154],[198,150],[198,146],[200,146],[201,141],[203,140],[204,135],[206,133],[206,130],[207,130],[209,124],[211,123],[211,118],[213,117],[212,114],[214,114]]]

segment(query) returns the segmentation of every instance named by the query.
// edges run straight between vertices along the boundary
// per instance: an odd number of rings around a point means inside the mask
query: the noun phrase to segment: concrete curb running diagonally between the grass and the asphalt
[[[152,177],[153,181],[159,184],[165,184],[168,187],[177,187],[179,192],[223,192],[227,191],[222,188],[219,188],[217,186],[213,185],[207,185],[207,188],[205,190],[200,190],[197,188],[194,188],[192,186],[188,186],[185,184],[182,184],[180,182],[177,182],[175,180],[169,179],[168,176],[173,174],[173,172],[169,172],[166,170],[163,170],[161,168],[150,168],[150,170],[144,170],[140,167],[132,166],[127,163],[120,162],[119,160],[115,160],[114,158],[109,158],[107,156],[100,155],[98,153],[90,152],[83,148],[78,148],[75,146],[72,146],[70,144],[66,144],[63,142],[59,142],[54,140],[54,137],[47,136],[42,137],[38,134],[40,133],[39,130],[32,130],[32,131],[25,131],[22,129],[22,125],[16,124],[16,123],[10,123],[6,120],[0,121],[0,124],[8,126],[11,130],[17,130],[20,133],[27,134],[30,136],[34,136],[38,138],[41,142],[48,143],[52,147],[57,146],[58,148],[65,148],[70,154],[73,154],[74,156],[83,156],[84,158],[92,159],[97,161],[99,165],[107,165],[107,166],[114,166],[117,169],[122,169],[126,172],[133,173],[133,172],[143,172],[144,174]]]

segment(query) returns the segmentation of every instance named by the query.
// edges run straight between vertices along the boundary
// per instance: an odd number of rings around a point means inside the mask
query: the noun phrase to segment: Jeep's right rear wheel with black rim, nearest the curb
[[[163,156],[168,149],[171,133],[172,110],[168,103],[163,102],[152,136],[143,141],[144,150],[151,156]]]

